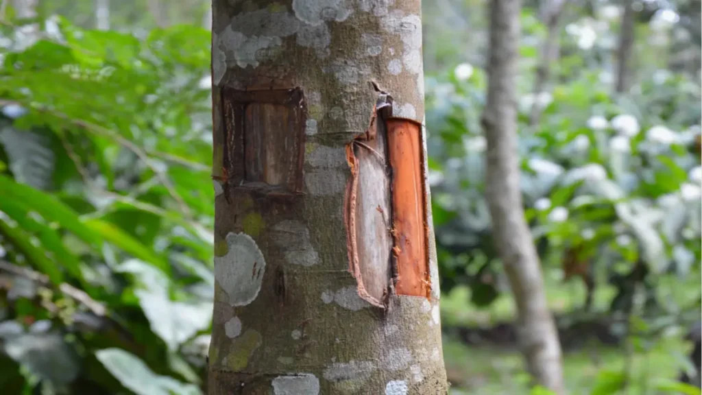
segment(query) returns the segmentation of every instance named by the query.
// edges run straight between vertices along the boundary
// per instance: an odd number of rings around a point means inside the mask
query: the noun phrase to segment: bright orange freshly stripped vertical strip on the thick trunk
[[[392,168],[392,235],[397,261],[395,292],[429,297],[428,232],[421,124],[390,118],[388,153]]]

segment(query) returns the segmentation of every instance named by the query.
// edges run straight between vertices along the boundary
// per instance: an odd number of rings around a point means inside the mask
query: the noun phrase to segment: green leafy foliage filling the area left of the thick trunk
[[[47,24],[0,65],[0,362],[14,372],[3,380],[15,393],[200,394],[209,32]]]

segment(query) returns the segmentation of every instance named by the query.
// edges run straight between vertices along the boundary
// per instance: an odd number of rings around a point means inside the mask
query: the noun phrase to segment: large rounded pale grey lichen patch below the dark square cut
[[[232,306],[246,306],[258,296],[265,272],[263,253],[246,233],[227,234],[227,254],[215,257],[215,279]]]

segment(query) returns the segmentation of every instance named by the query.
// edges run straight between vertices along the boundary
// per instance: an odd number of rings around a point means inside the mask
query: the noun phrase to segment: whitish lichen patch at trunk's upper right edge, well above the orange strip
[[[418,74],[422,71],[422,20],[419,15],[402,15],[392,11],[383,18],[385,30],[399,34],[402,39],[402,62],[407,71]]]

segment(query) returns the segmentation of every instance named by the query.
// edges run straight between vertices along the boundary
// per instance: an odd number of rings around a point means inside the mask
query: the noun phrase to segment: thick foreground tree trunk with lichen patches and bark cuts
[[[446,394],[419,0],[213,1],[218,394]]]

